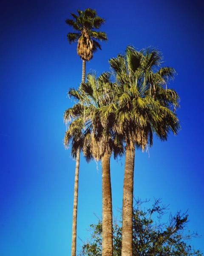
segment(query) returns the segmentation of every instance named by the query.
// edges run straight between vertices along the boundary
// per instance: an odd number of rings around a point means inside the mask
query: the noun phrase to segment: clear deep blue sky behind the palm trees
[[[0,255],[71,254],[75,162],[63,147],[63,113],[82,61],[68,44],[65,19],[88,7],[105,18],[108,42],[87,71],[109,70],[108,60],[132,44],[157,47],[178,73],[169,87],[181,98],[182,130],[167,142],[155,139],[149,153],[136,152],[134,196],[162,198],[172,213],[188,209],[188,228],[203,235],[192,243],[204,251],[203,1],[1,0]],[[115,215],[123,170],[124,158],[111,159]],[[85,240],[102,212],[101,165],[81,157],[79,172],[77,233]]]

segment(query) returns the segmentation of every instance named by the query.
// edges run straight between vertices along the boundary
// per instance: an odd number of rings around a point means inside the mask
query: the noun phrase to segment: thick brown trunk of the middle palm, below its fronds
[[[110,157],[104,155],[102,162],[102,256],[113,255],[112,196]]]

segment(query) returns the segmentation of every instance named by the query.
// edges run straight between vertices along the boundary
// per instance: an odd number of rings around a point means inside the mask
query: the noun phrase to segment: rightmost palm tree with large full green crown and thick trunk
[[[132,256],[133,234],[133,174],[135,148],[144,150],[153,143],[153,133],[167,140],[168,133],[177,134],[180,126],[174,113],[178,107],[175,90],[164,89],[175,70],[160,67],[161,54],[156,49],[136,51],[127,47],[125,55],[109,62],[118,83],[117,106],[113,129],[121,134],[125,143],[125,174],[122,202],[122,256]],[[158,70],[158,67],[159,70]],[[111,109],[112,108],[112,109]],[[173,109],[171,109],[173,108]]]

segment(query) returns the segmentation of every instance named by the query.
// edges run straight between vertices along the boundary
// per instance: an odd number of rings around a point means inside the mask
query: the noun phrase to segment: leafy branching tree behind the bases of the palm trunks
[[[172,215],[168,207],[155,200],[152,207],[145,208],[149,201],[137,200],[133,207],[133,256],[202,256],[191,244],[197,233],[187,229],[187,212]],[[168,218],[167,218],[167,212]],[[102,221],[91,224],[91,236],[82,245],[80,256],[100,256]],[[113,256],[121,256],[122,221],[113,221]]]

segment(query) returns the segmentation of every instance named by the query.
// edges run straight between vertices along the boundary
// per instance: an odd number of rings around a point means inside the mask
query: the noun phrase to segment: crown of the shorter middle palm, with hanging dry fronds
[[[100,160],[105,153],[111,156],[113,152],[115,157],[123,154],[122,141],[113,132],[113,116],[109,114],[105,118],[101,112],[113,101],[112,92],[116,84],[110,81],[110,76],[106,72],[96,78],[94,73],[89,73],[87,81],[82,82],[77,90],[68,91],[77,103],[64,113],[65,123],[69,124],[64,145],[68,147],[71,144],[74,158],[78,149],[83,151],[87,161],[92,158]]]

